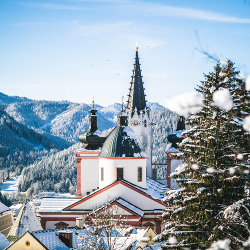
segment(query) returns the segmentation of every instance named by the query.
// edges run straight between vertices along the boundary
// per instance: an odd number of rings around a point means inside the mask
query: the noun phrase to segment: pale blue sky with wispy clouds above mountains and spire
[[[196,48],[250,74],[248,0],[1,0],[0,92],[109,105],[128,94],[138,42],[148,101],[212,70]]]

